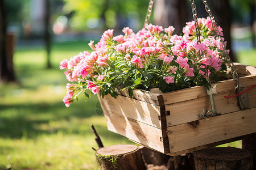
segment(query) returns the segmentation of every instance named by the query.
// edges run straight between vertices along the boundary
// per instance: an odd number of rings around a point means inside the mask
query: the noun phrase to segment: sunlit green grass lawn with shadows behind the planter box
[[[92,147],[97,148],[90,129],[93,124],[105,146],[133,144],[106,129],[98,111],[98,99],[71,107],[65,96],[62,59],[88,49],[88,42],[55,43],[52,69],[45,69],[43,47],[16,49],[14,66],[19,83],[0,85],[0,169],[97,169]],[[238,53],[241,63],[256,65],[256,50]],[[228,146],[241,147],[241,141]],[[227,146],[225,145],[225,146]]]

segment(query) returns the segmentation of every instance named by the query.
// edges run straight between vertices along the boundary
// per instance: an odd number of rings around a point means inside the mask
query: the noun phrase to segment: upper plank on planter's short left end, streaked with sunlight
[[[114,97],[106,95],[104,99],[101,97],[99,99],[105,117],[112,114],[121,114],[159,129],[166,128],[162,127],[162,123],[166,125],[166,120],[164,120],[165,122],[161,121],[160,107],[158,105],[125,96],[117,96],[117,99],[114,99]]]

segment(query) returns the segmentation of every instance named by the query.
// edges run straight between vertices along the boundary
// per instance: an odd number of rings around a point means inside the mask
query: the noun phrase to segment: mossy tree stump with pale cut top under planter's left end
[[[101,169],[146,169],[141,152],[135,145],[102,147],[96,151],[96,160]]]

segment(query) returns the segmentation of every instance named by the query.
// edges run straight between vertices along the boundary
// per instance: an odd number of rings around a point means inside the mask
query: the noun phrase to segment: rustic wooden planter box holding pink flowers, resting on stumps
[[[255,67],[235,65],[243,87],[256,84]],[[246,110],[240,109],[237,97],[224,97],[235,87],[233,79],[217,83],[217,94],[213,97],[220,115],[209,120],[199,117],[203,109],[211,110],[209,96],[202,86],[166,94],[135,90],[134,99],[126,94],[117,99],[110,95],[98,98],[108,130],[152,150],[180,155],[256,133],[256,87],[247,92],[250,107]]]

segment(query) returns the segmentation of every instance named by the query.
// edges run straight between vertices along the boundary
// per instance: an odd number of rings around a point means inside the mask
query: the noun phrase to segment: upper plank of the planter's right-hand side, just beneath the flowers
[[[243,87],[249,87],[256,84],[256,75],[247,75],[240,78]],[[216,92],[221,93],[225,91],[232,91],[237,86],[237,82],[233,79],[224,80],[216,83]],[[215,84],[212,84],[215,86]],[[185,96],[185,97],[184,97]],[[198,99],[207,96],[207,91],[203,86],[196,86],[168,92],[163,94],[164,104],[178,103],[181,101]]]

